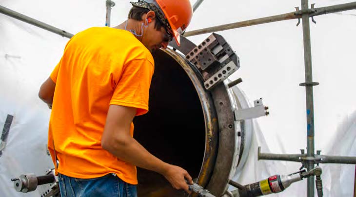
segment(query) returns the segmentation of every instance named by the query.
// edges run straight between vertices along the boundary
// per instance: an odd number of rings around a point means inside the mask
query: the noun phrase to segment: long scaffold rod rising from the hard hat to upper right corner
[[[297,12],[290,12],[290,13],[286,13],[286,14],[271,16],[271,17],[257,18],[257,19],[252,19],[252,20],[236,22],[236,23],[218,25],[218,26],[214,26],[214,27],[207,27],[207,28],[203,28],[203,29],[199,29],[199,30],[193,30],[190,32],[186,32],[185,36],[186,37],[196,36],[196,35],[200,35],[200,34],[207,34],[207,33],[224,31],[224,30],[235,29],[235,28],[240,28],[240,27],[247,27],[247,26],[252,26],[252,25],[277,22],[277,21],[281,21],[281,20],[290,20],[290,19],[301,18],[302,12],[308,13],[309,17],[313,17],[313,16],[318,16],[318,15],[324,15],[324,14],[328,14],[328,13],[341,12],[341,11],[353,10],[353,9],[356,9],[356,2],[308,9],[308,10],[304,10],[304,11],[299,10]]]

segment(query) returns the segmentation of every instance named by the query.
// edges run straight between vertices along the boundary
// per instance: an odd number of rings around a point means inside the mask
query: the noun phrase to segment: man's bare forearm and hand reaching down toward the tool
[[[163,175],[174,188],[190,193],[185,179],[193,184],[192,178],[183,168],[168,164],[150,154],[130,135],[130,125],[136,115],[136,108],[110,105],[101,146],[119,159],[141,168]]]

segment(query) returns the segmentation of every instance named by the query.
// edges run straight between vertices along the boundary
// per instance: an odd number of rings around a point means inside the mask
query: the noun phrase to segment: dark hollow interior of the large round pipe
[[[149,152],[198,178],[205,149],[204,115],[192,81],[177,61],[154,54],[149,112],[134,119],[134,137]],[[158,173],[138,168],[138,197],[186,196]]]

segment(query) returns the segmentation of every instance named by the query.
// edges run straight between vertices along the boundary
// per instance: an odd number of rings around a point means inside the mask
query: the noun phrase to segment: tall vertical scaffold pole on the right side
[[[308,0],[301,0],[302,10],[309,9]],[[303,45],[304,45],[304,70],[305,82],[313,82],[312,71],[312,52],[310,44],[310,24],[309,16],[302,15],[303,23]],[[307,156],[314,157],[314,100],[313,100],[313,86],[305,86],[306,98],[306,116],[307,116]],[[305,167],[308,170],[314,168],[314,161],[307,161]],[[314,197],[314,176],[309,177],[307,181],[307,196]]]

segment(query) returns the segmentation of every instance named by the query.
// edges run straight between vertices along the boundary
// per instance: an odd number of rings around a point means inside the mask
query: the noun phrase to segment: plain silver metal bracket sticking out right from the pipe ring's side
[[[267,106],[264,106],[262,103],[262,98],[254,101],[255,107],[244,108],[244,109],[237,109],[234,111],[235,120],[247,120],[252,118],[258,118],[261,116],[267,116],[270,114]]]

